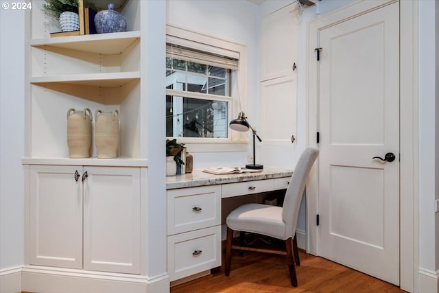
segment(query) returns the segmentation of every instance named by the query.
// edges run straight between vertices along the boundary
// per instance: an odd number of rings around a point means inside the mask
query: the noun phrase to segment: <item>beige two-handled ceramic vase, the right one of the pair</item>
[[[119,149],[119,111],[95,112],[95,144],[97,157],[110,159],[117,157]]]

